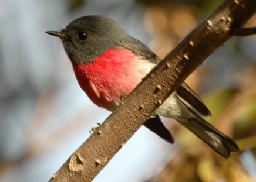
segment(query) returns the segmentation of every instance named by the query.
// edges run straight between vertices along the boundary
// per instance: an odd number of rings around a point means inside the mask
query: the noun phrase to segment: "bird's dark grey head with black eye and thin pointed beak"
[[[83,16],[59,32],[46,33],[60,37],[69,59],[76,63],[89,63],[122,40],[129,39],[119,23],[104,16]]]

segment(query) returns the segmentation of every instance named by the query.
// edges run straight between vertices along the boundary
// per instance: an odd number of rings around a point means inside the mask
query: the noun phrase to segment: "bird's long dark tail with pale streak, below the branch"
[[[178,122],[225,158],[230,156],[230,152],[239,152],[239,147],[231,138],[218,131],[197,114],[194,113],[194,115],[194,118],[180,118]]]

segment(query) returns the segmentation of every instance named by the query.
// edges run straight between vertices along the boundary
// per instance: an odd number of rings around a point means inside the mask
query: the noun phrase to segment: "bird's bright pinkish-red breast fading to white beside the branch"
[[[131,92],[153,67],[123,48],[107,50],[91,63],[72,64],[83,91],[96,105],[110,111],[118,105],[120,97]]]

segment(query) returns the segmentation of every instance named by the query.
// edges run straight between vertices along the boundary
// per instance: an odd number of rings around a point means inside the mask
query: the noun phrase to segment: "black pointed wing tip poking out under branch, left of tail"
[[[159,116],[147,119],[147,121],[144,123],[144,126],[146,126],[152,132],[159,135],[162,139],[166,140],[167,142],[174,143],[173,136],[171,136],[169,130],[161,122]]]

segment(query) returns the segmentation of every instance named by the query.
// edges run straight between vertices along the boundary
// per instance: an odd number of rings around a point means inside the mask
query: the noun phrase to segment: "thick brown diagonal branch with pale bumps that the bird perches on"
[[[207,56],[254,15],[255,0],[226,0],[158,64],[51,181],[91,181],[150,114]]]

